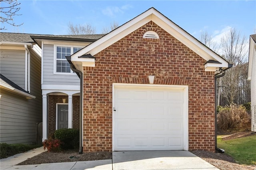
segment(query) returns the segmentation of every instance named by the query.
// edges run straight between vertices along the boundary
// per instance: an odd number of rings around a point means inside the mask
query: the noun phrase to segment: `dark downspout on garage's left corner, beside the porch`
[[[66,59],[68,60],[68,62],[70,63],[70,68],[72,69],[72,71],[76,72],[76,74],[78,75],[78,77],[80,78],[80,106],[79,106],[79,152],[78,154],[82,154],[83,153],[83,146],[82,146],[82,105],[83,105],[83,73],[81,71],[79,71],[78,69],[76,69],[76,67],[73,65],[73,63],[71,62],[71,56],[66,56]]]

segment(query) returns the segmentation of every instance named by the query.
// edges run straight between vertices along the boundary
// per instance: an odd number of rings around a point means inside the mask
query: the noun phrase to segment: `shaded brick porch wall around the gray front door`
[[[67,95],[49,95],[48,96],[48,136],[56,130],[56,103],[63,103],[62,99],[66,99]],[[79,129],[79,100],[80,96],[73,96],[73,128]]]

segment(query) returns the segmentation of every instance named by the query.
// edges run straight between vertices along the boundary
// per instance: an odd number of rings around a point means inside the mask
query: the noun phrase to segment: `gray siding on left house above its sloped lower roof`
[[[25,89],[25,50],[0,51],[0,73]]]

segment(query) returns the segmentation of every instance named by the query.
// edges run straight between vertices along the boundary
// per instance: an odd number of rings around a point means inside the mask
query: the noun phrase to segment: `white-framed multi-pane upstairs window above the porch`
[[[70,64],[68,63],[66,56],[70,56],[80,49],[82,49],[82,47],[54,45],[54,73],[73,74],[74,71],[70,69]]]

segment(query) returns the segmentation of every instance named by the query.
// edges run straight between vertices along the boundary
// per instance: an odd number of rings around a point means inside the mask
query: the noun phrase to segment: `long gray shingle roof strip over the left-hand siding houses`
[[[23,33],[6,33],[0,32],[0,42],[34,42],[30,36],[48,37],[48,38],[76,38],[76,39],[91,39],[98,40],[105,34],[92,34],[92,35],[46,35],[46,34],[23,34]]]

